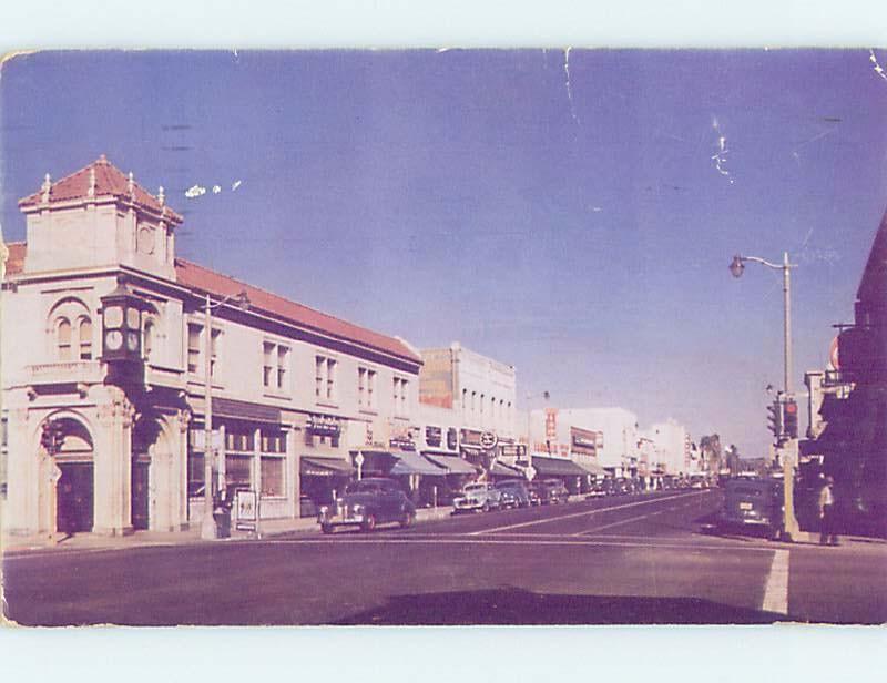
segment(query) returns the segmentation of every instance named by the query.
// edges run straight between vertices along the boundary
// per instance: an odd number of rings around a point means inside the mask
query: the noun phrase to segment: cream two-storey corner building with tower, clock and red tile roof
[[[8,532],[198,522],[206,368],[212,489],[256,491],[263,519],[313,514],[351,478],[349,453],[411,428],[415,350],[176,258],[163,188],[102,156],[19,206],[27,242],[9,245],[2,290]]]

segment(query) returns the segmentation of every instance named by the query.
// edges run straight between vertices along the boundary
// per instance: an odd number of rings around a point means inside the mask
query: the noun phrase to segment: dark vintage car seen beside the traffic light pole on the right
[[[783,485],[774,479],[732,479],[717,520],[724,531],[758,529],[776,538],[783,523]]]

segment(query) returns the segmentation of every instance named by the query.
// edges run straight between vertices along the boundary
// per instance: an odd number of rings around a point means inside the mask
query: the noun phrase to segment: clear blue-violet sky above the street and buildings
[[[873,67],[572,50],[568,86],[563,50],[34,54],[0,79],[3,233],[24,237],[16,201],[44,173],[105,153],[166,187],[180,256],[419,347],[458,339],[516,365],[521,396],[674,417],[757,456],[779,277],[727,265],[799,264],[802,386],[887,206]]]

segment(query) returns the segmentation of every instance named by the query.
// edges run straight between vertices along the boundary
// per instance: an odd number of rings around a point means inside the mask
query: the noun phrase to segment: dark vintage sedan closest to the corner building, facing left
[[[368,478],[349,483],[333,504],[320,506],[317,522],[324,533],[336,527],[373,531],[377,524],[397,522],[407,528],[416,520],[416,508],[394,479]]]

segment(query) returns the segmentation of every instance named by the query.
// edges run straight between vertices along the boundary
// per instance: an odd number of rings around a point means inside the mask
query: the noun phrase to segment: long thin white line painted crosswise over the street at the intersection
[[[463,537],[448,537],[448,538],[378,538],[378,539],[293,539],[293,540],[274,540],[274,541],[256,541],[266,546],[580,546],[587,548],[665,548],[679,550],[723,550],[727,552],[737,551],[752,551],[752,552],[773,552],[772,548],[761,548],[756,546],[716,546],[716,544],[701,544],[701,543],[631,543],[628,541],[603,541],[603,540],[542,540],[533,534],[532,537],[523,536],[522,539],[503,539],[503,538],[469,538]]]

